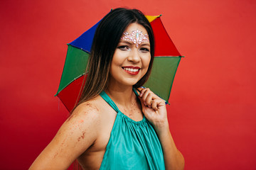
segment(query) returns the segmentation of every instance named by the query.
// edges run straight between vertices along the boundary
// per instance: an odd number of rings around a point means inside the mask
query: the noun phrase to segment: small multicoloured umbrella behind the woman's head
[[[155,57],[151,75],[144,87],[148,87],[168,103],[171,86],[182,56],[166,32],[160,16],[146,16],[154,32]],[[99,23],[100,21],[68,44],[63,74],[58,92],[55,94],[68,111],[72,111],[78,103],[80,92],[85,84],[87,60],[90,55],[92,39]]]

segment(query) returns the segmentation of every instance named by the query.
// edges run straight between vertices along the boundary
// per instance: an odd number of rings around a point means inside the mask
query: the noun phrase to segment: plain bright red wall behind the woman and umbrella
[[[168,106],[186,169],[256,167],[252,0],[1,1],[0,169],[28,169],[65,121],[66,43],[111,8],[159,15],[182,55]]]

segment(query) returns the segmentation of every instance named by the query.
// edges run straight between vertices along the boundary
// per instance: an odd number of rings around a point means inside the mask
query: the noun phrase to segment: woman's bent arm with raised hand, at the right
[[[139,90],[142,111],[146,118],[154,125],[161,142],[166,169],[184,169],[183,155],[176,148],[169,130],[165,101],[149,89],[139,88]]]

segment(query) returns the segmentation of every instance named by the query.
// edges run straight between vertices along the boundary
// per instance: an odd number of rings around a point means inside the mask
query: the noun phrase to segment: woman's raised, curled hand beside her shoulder
[[[142,112],[156,129],[156,132],[169,130],[167,120],[166,103],[150,89],[138,88],[140,91],[139,99],[142,103]]]

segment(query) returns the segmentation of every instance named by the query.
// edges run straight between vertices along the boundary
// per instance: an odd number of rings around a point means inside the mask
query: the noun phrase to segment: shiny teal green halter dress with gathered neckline
[[[161,143],[149,120],[134,121],[119,111],[105,91],[100,96],[117,112],[100,170],[165,169]]]

